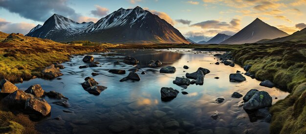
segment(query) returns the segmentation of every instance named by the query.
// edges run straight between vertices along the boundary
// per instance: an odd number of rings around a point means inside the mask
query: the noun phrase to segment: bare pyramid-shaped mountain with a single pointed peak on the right
[[[282,30],[277,29],[260,19],[256,19],[249,25],[245,26],[238,33],[221,42],[220,44],[245,44],[255,43],[262,39],[275,39],[287,36],[288,34]]]

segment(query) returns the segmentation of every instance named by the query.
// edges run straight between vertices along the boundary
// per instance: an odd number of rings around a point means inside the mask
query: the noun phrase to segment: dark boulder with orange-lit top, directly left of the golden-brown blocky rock
[[[1,102],[3,105],[12,106],[15,109],[24,109],[24,104],[28,98],[34,98],[34,95],[18,89],[4,97]]]

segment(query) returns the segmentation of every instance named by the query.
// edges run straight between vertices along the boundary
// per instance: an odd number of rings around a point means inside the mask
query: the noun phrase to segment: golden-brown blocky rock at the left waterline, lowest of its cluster
[[[25,112],[31,112],[43,116],[49,115],[51,106],[44,99],[28,98],[25,102]]]

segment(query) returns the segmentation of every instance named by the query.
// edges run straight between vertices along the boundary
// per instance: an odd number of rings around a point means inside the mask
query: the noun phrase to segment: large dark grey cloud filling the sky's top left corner
[[[0,7],[33,21],[44,22],[54,13],[77,20],[80,16],[67,6],[68,0],[0,0]]]

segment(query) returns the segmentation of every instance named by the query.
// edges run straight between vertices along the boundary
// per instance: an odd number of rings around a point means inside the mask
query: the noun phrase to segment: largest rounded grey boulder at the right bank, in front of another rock
[[[258,110],[272,105],[272,97],[266,91],[256,91],[254,95],[244,103],[245,110]]]

